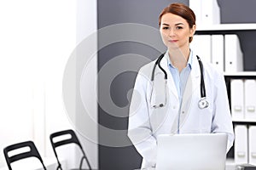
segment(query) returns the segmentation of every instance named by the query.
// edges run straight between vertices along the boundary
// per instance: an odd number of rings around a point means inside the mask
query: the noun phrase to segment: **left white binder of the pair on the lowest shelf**
[[[235,126],[235,163],[242,164],[247,163],[248,151],[247,151],[247,126],[236,125]]]

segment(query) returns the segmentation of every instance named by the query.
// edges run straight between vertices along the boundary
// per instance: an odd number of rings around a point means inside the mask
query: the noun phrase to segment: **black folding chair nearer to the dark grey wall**
[[[62,136],[62,135],[67,135],[67,134],[70,134],[70,135],[71,135],[71,138],[70,138],[70,139],[61,139],[61,140],[59,140],[59,141],[54,142],[54,138],[60,137],[60,136]],[[61,167],[61,162],[59,161],[59,158],[58,158],[58,156],[57,156],[57,153],[56,153],[56,150],[55,150],[55,149],[56,149],[57,147],[61,146],[61,145],[64,145],[64,144],[72,144],[72,143],[78,144],[80,150],[81,150],[82,153],[83,153],[83,156],[82,156],[82,158],[81,158],[81,160],[80,160],[79,170],[82,168],[82,165],[83,165],[83,161],[84,161],[84,160],[87,162],[87,165],[88,165],[89,169],[91,170],[90,162],[88,161],[88,158],[87,158],[87,156],[86,156],[85,153],[84,153],[83,147],[82,147],[82,145],[80,144],[79,139],[78,139],[76,133],[75,133],[73,130],[69,129],[69,130],[64,130],[64,131],[61,131],[61,132],[52,133],[52,134],[50,134],[49,139],[50,139],[50,143],[51,143],[51,145],[52,145],[52,148],[53,148],[53,150],[54,150],[54,152],[55,152],[55,157],[56,157],[56,159],[57,159],[57,161],[58,161],[57,170],[58,170],[58,169],[62,170],[62,167]]]

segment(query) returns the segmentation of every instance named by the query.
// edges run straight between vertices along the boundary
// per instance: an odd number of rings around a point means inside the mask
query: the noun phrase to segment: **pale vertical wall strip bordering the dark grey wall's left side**
[[[82,65],[82,68],[77,68],[77,71],[84,70],[85,83],[83,77],[78,77],[77,82],[80,83],[77,87],[84,88],[84,94],[77,89],[77,104],[76,104],[76,120],[75,124],[79,130],[79,139],[83,143],[86,155],[89,157],[90,164],[94,168],[98,168],[98,147],[97,147],[97,102],[96,102],[96,89],[97,89],[97,56],[88,55],[87,51],[97,51],[97,4],[96,0],[78,0],[77,1],[77,42],[84,48],[86,57],[83,60],[90,60],[90,64]],[[89,40],[90,39],[90,40]],[[90,46],[87,46],[90,41]],[[79,54],[78,54],[79,55]],[[80,62],[79,59],[77,62]],[[79,99],[84,98],[83,105]],[[90,115],[84,112],[84,107],[90,111]],[[82,114],[81,114],[82,112]],[[85,113],[85,114],[84,114]],[[77,156],[79,156],[77,154]]]

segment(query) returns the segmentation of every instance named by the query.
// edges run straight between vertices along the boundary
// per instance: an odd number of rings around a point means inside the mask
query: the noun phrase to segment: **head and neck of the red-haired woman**
[[[181,71],[188,61],[189,42],[195,34],[195,14],[183,3],[172,3],[161,12],[159,26],[162,40],[172,54],[172,64]]]

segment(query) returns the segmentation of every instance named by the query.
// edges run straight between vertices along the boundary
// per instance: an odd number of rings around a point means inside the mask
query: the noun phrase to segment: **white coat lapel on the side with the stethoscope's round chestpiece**
[[[195,93],[197,89],[200,88],[200,83],[201,83],[200,77],[201,77],[200,66],[196,56],[194,55],[192,60],[192,69],[191,69],[188,81],[186,83],[186,88],[183,94],[182,108],[184,105],[190,105],[189,103],[191,102],[192,95],[200,95],[200,93],[199,94]]]

